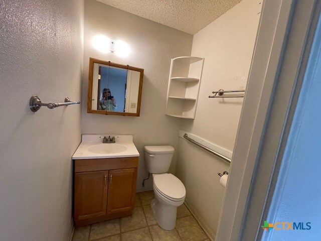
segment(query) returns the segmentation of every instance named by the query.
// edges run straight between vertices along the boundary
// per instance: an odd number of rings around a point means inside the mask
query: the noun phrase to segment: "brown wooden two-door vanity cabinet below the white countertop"
[[[74,162],[76,226],[132,214],[138,157],[77,159]]]

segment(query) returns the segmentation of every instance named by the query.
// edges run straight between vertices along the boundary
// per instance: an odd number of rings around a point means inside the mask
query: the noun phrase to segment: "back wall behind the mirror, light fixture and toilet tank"
[[[117,57],[114,53],[100,53],[91,39],[103,34],[110,39],[128,43],[131,54]],[[85,1],[83,103],[87,101],[89,58],[128,64],[144,69],[140,116],[89,114],[82,106],[82,133],[133,134],[140,153],[137,188],[147,176],[144,165],[145,145],[172,145],[177,148],[181,119],[165,115],[166,94],[171,58],[191,54],[190,34],[112,8],[94,0]],[[171,171],[175,171],[176,155]],[[152,188],[152,182],[146,183]]]

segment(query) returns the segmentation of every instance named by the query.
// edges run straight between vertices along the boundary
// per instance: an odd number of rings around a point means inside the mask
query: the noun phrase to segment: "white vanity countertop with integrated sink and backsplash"
[[[103,137],[115,137],[115,143],[102,143]],[[102,138],[101,138],[102,137]],[[104,151],[93,151],[103,149]],[[105,150],[106,149],[106,150]],[[115,150],[120,150],[115,152]],[[132,135],[87,135],[81,136],[81,143],[72,159],[100,159],[119,157],[139,157],[139,153],[133,143]]]

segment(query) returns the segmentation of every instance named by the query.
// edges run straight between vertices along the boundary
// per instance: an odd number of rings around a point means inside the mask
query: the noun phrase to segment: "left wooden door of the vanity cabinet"
[[[74,218],[106,215],[108,171],[75,174]]]

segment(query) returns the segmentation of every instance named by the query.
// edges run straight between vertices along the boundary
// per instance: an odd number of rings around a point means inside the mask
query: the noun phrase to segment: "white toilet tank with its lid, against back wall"
[[[166,173],[169,171],[174,147],[172,146],[145,146],[145,164],[149,173]]]

